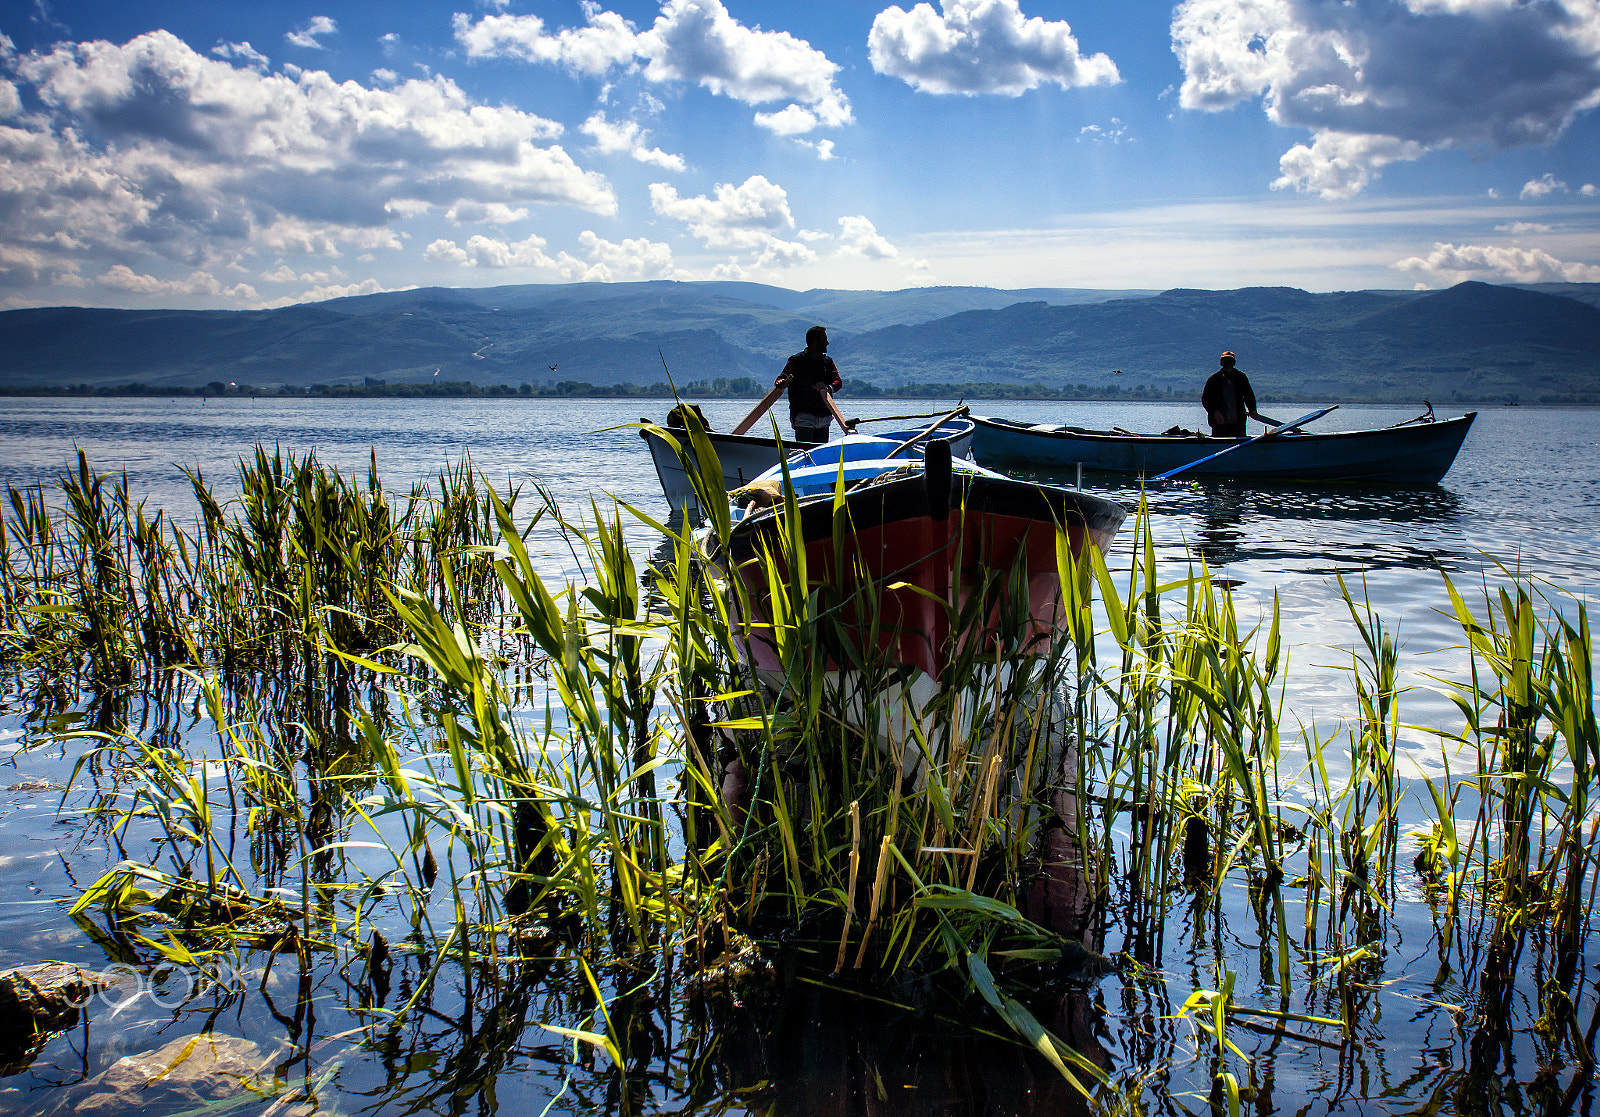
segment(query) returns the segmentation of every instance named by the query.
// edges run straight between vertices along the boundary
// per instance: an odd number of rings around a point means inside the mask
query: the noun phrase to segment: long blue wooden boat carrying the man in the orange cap
[[[1197,464],[1182,477],[1237,477],[1299,482],[1374,482],[1432,485],[1456,461],[1477,411],[1454,419],[1426,416],[1376,430],[1299,430],[1259,438],[1248,446]],[[1243,438],[1200,434],[1139,435],[1072,426],[1027,424],[973,416],[973,448],[986,466],[1155,477]]]

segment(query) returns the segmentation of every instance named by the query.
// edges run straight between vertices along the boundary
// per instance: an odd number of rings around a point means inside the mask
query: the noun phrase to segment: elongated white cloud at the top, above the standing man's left
[[[838,64],[789,32],[746,27],[722,0],[667,0],[646,30],[594,0],[586,0],[584,18],[582,27],[552,32],[539,16],[472,21],[458,13],[453,27],[469,58],[515,58],[590,77],[638,67],[646,82],[699,85],[750,106],[787,101],[755,117],[765,128],[789,130],[781,134],[838,128],[854,118],[834,83]]]

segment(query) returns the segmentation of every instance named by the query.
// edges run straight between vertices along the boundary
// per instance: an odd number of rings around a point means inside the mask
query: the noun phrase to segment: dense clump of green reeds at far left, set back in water
[[[192,530],[147,514],[126,477],[96,472],[82,451],[58,477],[59,504],[10,486],[0,658],[82,669],[93,687],[184,664],[304,677],[328,664],[325,645],[374,651],[398,639],[384,587],[442,602],[440,560],[496,531],[466,461],[438,475],[437,494],[416,488],[403,501],[382,488],[376,458],[362,485],[312,454],[261,446],[240,461],[226,506],[198,472],[189,480]],[[470,578],[466,600],[477,602],[493,575]]]

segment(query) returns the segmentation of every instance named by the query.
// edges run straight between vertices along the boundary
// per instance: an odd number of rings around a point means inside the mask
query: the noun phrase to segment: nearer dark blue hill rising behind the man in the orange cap
[[[838,346],[838,358],[848,374],[885,386],[997,379],[1197,392],[1222,349],[1238,354],[1262,397],[1600,398],[1600,310],[1483,283],[1029,302],[864,333]]]

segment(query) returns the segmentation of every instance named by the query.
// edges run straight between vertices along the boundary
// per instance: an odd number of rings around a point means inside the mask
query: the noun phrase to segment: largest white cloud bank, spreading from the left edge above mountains
[[[0,125],[0,285],[398,250],[395,222],[434,208],[616,211],[555,122],[442,77],[378,90],[248,62],[168,32],[0,59],[40,106]]]

